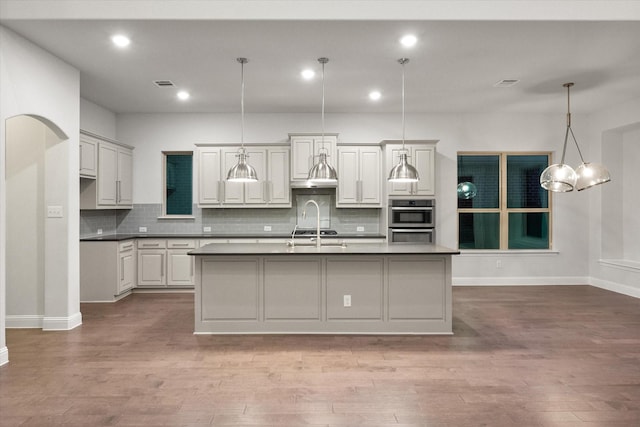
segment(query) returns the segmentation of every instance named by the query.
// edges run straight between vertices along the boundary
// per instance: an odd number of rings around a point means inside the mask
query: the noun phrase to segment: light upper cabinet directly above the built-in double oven
[[[435,185],[435,158],[437,141],[405,142],[405,149],[409,156],[409,163],[418,170],[420,180],[414,183],[399,182],[387,183],[387,195],[389,196],[434,196]],[[402,143],[385,145],[386,165],[385,170],[390,171],[400,159]]]

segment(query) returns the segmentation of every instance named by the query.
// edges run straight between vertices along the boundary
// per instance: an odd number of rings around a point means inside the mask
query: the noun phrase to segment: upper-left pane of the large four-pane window
[[[459,155],[458,183],[471,182],[475,197],[458,199],[458,208],[498,208],[500,206],[500,156]]]

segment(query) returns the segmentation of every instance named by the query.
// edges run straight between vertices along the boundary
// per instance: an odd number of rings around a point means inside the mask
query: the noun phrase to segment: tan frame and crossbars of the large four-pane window
[[[500,215],[499,240],[500,247],[498,249],[461,249],[464,251],[484,251],[484,252],[504,252],[504,251],[552,251],[553,250],[553,197],[551,192],[548,194],[546,208],[509,208],[507,207],[507,158],[509,156],[547,156],[547,165],[551,165],[553,161],[553,153],[550,151],[458,151],[456,153],[456,185],[458,182],[458,157],[459,156],[498,156],[499,157],[499,192],[497,208],[458,208],[456,199],[456,244],[460,248],[460,214],[461,213],[497,213]],[[510,249],[509,248],[509,214],[511,213],[548,213],[549,221],[549,247],[546,249]]]

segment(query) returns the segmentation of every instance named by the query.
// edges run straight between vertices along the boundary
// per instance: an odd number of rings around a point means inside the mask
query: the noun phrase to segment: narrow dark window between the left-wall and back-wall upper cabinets
[[[191,216],[193,152],[163,151],[164,216]]]

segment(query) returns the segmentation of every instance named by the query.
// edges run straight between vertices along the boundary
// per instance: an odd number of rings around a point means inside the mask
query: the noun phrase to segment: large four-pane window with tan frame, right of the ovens
[[[551,202],[540,187],[550,153],[458,153],[458,184],[472,183],[472,197],[458,198],[460,249],[549,249]]]

